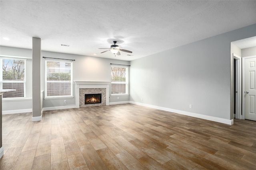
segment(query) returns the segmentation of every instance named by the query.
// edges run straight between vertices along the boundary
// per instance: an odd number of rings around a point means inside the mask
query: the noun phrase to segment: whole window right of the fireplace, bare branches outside
[[[128,94],[128,67],[111,66],[111,94]]]

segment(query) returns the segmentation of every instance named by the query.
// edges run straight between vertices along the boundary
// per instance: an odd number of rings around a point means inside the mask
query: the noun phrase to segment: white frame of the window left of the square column
[[[6,81],[6,80],[3,80],[3,60],[4,59],[8,59],[8,60],[21,60],[21,61],[24,61],[24,80],[22,81],[16,81],[16,80],[10,80],[10,81]],[[3,83],[23,83],[24,86],[23,86],[23,92],[24,92],[24,95],[23,97],[6,97],[2,98],[2,100],[17,100],[17,99],[24,99],[26,98],[26,59],[24,58],[19,58],[19,57],[0,57],[0,90],[3,90]]]

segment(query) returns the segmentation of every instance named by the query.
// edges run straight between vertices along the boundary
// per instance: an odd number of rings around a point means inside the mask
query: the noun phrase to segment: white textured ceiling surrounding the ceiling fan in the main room
[[[1,0],[0,15],[2,46],[131,61],[252,25],[256,1]],[[100,54],[114,40],[133,56]]]

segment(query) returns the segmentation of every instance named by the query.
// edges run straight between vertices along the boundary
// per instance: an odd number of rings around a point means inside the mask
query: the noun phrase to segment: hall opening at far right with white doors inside
[[[231,89],[230,89],[230,118],[234,119],[250,119],[245,118],[245,112],[250,112],[256,116],[256,95],[250,95],[249,91],[246,90],[245,85],[248,83],[245,80],[245,70],[244,63],[246,58],[256,58],[256,36],[249,37],[246,39],[240,39],[237,41],[232,41],[230,43],[230,66],[231,66]],[[239,54],[236,55],[236,54]],[[251,63],[253,66],[254,62]],[[256,61],[255,64],[256,66]],[[248,63],[247,63],[248,66]],[[249,85],[250,88],[255,86],[256,88],[256,70],[248,72],[250,78],[253,77]],[[247,78],[248,79],[248,78]],[[252,88],[252,89],[255,89]],[[251,93],[252,90],[250,90]],[[246,93],[248,92],[248,93]],[[246,95],[248,94],[248,95]],[[247,96],[247,98],[246,98]],[[248,97],[250,99],[248,99]],[[248,103],[249,102],[249,103]],[[249,104],[249,106],[248,106]],[[240,108],[239,108],[240,107]],[[248,108],[250,111],[247,111]]]

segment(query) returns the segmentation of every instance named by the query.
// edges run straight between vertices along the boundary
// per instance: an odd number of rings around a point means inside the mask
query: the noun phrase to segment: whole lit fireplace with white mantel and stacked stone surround
[[[109,105],[110,82],[74,81],[74,84],[76,86],[76,108]],[[88,99],[90,101],[86,104],[86,94],[92,96],[93,94],[101,94],[101,103],[94,103],[90,99]]]

